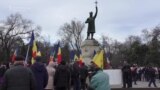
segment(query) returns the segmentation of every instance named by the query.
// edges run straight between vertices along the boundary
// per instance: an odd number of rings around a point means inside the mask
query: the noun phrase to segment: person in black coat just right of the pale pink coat
[[[62,60],[55,72],[54,86],[56,90],[68,90],[69,84],[70,71],[66,65],[66,62]]]

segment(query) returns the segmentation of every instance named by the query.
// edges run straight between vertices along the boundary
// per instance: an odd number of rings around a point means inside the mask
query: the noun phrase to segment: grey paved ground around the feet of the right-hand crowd
[[[156,85],[158,88],[160,88],[160,82],[156,80]],[[137,85],[132,85],[133,88],[155,88],[153,84],[151,84],[151,87],[148,87],[148,82],[142,82],[142,81],[137,81]],[[122,85],[112,85],[111,88],[122,88]]]

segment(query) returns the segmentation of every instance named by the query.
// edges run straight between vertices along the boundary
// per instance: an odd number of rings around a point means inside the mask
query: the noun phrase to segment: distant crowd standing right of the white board
[[[122,67],[123,88],[132,88],[137,85],[137,81],[148,82],[148,87],[153,83],[156,85],[156,79],[160,80],[160,69],[157,67],[138,67],[137,64],[129,65],[127,62]]]

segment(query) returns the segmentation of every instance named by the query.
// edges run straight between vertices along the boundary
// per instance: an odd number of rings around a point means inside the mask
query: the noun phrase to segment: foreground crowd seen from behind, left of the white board
[[[110,90],[109,76],[94,62],[90,67],[65,60],[45,65],[41,59],[37,56],[34,64],[26,66],[24,57],[17,56],[9,68],[1,65],[0,90]]]

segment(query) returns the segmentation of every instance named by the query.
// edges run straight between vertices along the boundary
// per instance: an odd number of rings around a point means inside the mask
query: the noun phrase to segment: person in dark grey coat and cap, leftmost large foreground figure
[[[15,60],[14,66],[5,72],[0,90],[36,90],[35,77],[29,68],[24,67],[24,58],[17,56]]]

